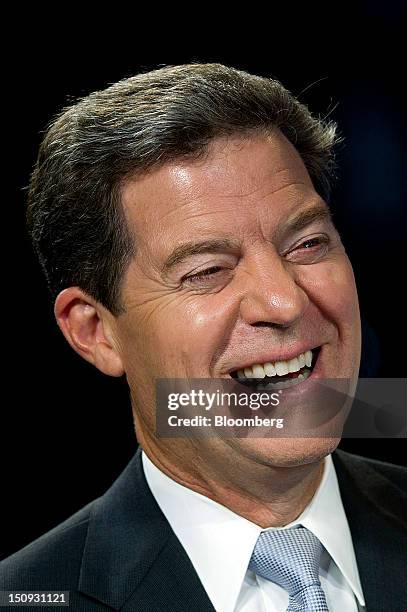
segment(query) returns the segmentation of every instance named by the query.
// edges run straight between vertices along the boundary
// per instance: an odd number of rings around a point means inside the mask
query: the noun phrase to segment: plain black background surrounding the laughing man
[[[295,29],[274,15],[261,24],[257,14],[254,28],[247,22],[222,30],[213,20],[199,37],[194,25],[164,37],[150,20],[144,28],[134,21],[114,38],[115,25],[67,34],[53,28],[20,39],[24,52],[8,58],[4,77],[3,128],[11,133],[9,144],[3,142],[9,163],[3,177],[1,556],[102,494],[136,447],[125,382],[103,376],[68,347],[24,230],[22,188],[41,131],[57,110],[90,91],[164,64],[217,61],[278,78],[313,112],[329,111],[345,137],[332,207],[369,330],[362,374],[405,375],[403,4],[384,9],[359,2],[346,15],[334,5],[326,15],[319,8]],[[406,463],[404,440],[345,440],[341,447]]]

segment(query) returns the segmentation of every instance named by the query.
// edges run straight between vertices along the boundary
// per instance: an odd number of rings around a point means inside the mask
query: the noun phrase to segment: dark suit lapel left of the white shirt
[[[114,610],[214,610],[150,492],[140,449],[94,504],[78,590]]]

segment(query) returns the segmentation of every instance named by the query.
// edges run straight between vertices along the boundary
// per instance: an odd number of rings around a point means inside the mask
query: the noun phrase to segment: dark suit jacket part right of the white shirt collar
[[[361,458],[333,454],[367,612],[407,609],[405,494]]]

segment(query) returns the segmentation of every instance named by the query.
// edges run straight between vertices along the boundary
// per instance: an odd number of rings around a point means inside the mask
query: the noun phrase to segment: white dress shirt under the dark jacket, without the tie
[[[217,612],[285,612],[288,593],[248,570],[262,531],[259,525],[175,482],[142,453],[150,490],[180,540]],[[358,612],[365,602],[335,467],[325,458],[320,485],[292,523],[313,532],[324,546],[321,586],[332,612]]]

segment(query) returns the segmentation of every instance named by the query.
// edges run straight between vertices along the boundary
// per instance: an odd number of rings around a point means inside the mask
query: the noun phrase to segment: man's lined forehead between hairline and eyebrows
[[[281,132],[212,142],[199,161],[175,160],[122,190],[137,241],[184,239],[255,222],[267,209],[276,221],[315,192],[304,163]],[[293,208],[294,207],[294,208]]]

